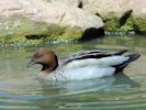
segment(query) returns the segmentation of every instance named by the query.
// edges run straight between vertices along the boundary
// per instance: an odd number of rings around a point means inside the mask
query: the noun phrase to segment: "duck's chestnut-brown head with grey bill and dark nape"
[[[41,64],[42,72],[49,74],[58,67],[58,58],[52,50],[42,47],[34,53],[27,67],[34,64]]]

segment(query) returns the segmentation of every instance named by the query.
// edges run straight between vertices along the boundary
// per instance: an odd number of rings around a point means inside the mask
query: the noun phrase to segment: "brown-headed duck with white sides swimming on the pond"
[[[125,52],[127,50],[114,53],[100,50],[80,51],[59,59],[50,48],[41,47],[33,54],[27,67],[34,64],[42,65],[38,76],[48,80],[108,77],[123,72],[128,64],[141,57],[138,53],[124,55]]]

